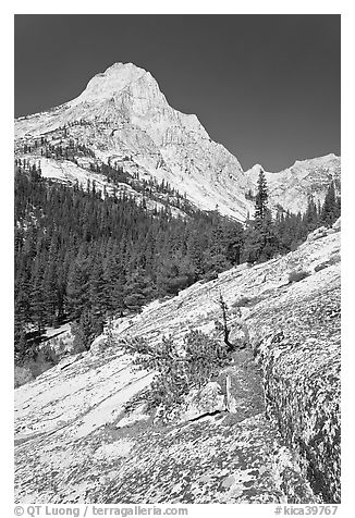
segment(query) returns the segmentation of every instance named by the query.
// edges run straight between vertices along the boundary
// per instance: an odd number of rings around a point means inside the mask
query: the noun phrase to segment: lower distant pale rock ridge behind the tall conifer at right
[[[245,173],[254,184],[254,192],[260,170],[265,172],[270,202],[273,206],[279,203],[294,213],[306,210],[310,195],[315,201],[323,202],[331,181],[334,181],[335,188],[340,192],[340,157],[333,153],[297,160],[291,168],[279,173],[266,172],[261,165],[254,165]]]

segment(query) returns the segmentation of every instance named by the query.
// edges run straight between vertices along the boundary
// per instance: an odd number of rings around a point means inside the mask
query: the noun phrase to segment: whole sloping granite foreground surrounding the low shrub
[[[308,275],[290,283],[295,270]],[[194,420],[157,420],[144,405],[154,373],[114,340],[15,391],[17,502],[340,501],[340,233],[151,303],[113,337],[211,333],[220,293],[247,346]]]

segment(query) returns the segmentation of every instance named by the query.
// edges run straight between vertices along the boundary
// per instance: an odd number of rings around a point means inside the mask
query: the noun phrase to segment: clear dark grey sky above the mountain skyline
[[[149,71],[244,169],[340,155],[340,15],[16,15],[15,115],[117,61]]]

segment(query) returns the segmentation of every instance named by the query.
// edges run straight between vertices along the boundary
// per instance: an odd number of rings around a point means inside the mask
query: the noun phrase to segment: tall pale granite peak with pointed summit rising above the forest
[[[244,220],[252,210],[244,197],[248,187],[237,159],[210,139],[196,115],[171,108],[157,82],[132,63],[115,63],[89,81],[74,100],[49,112],[15,121],[20,146],[29,136],[78,139],[97,158],[112,160],[142,178],[164,180],[197,207]],[[27,157],[28,159],[29,157]],[[42,171],[50,176],[50,163]]]

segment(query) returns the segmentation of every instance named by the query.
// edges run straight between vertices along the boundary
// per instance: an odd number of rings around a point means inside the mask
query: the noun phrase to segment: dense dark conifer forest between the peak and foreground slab
[[[302,215],[268,210],[262,174],[255,219],[242,224],[218,211],[170,207],[148,211],[95,183],[74,188],[41,178],[40,165],[15,168],[15,358],[36,355],[44,329],[72,321],[89,347],[112,316],[139,311],[240,262],[264,261],[294,249],[308,232],[340,214],[330,185],[323,207],[309,199]],[[186,208],[185,208],[186,210]]]

